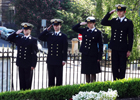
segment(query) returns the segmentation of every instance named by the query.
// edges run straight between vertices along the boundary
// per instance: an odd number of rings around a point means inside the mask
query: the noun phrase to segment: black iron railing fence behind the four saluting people
[[[17,50],[10,47],[0,48],[0,92],[19,90],[18,67],[16,66]],[[38,52],[37,66],[33,72],[32,89],[48,87],[47,53]],[[96,75],[96,81],[113,81],[111,57],[104,53],[100,62],[102,72]],[[93,65],[94,66],[94,65]],[[128,61],[125,78],[140,77],[140,60]],[[81,54],[72,55],[68,52],[68,61],[63,67],[63,85],[86,83],[85,75],[81,74]]]

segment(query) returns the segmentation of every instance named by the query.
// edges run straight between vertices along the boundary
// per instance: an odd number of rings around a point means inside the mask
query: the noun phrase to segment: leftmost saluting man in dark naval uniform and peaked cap
[[[20,90],[31,89],[33,69],[37,63],[37,39],[31,36],[33,25],[21,23],[23,29],[9,35],[8,40],[17,45],[16,65],[19,67]],[[23,31],[24,36],[19,34]]]

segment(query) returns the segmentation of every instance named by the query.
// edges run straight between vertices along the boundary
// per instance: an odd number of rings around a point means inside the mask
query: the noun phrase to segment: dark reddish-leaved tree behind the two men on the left
[[[22,22],[29,22],[35,26],[35,32],[40,33],[41,19],[50,19],[56,14],[55,9],[61,9],[59,0],[15,0],[15,22],[20,26]]]

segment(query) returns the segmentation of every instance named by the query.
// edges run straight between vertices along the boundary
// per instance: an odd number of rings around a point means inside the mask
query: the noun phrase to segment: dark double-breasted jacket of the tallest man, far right
[[[120,22],[119,18],[108,20],[111,14],[107,13],[101,24],[111,26],[111,40],[109,47],[112,50],[131,51],[133,45],[133,23],[128,18]]]

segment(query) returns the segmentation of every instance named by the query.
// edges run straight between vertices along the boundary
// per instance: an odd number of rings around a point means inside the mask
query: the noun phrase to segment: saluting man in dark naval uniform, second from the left
[[[48,45],[48,56],[46,62],[49,86],[60,86],[62,85],[63,66],[67,61],[68,42],[67,36],[60,30],[63,20],[52,19],[51,23],[52,25],[45,29],[38,38],[42,41],[46,41]],[[49,29],[52,26],[54,31],[50,32]]]

